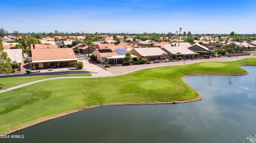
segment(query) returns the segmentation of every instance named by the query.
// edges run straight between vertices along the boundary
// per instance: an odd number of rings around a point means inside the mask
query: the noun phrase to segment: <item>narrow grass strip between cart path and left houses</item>
[[[52,77],[63,77],[63,76],[92,76],[90,73],[81,74],[57,74],[57,75],[38,75],[38,76],[20,76],[20,77],[7,77],[0,78],[0,90],[4,90],[10,87],[14,87],[27,82],[52,78]]]

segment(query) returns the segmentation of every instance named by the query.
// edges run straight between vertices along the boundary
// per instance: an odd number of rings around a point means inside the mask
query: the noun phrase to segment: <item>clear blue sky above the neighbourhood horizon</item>
[[[256,0],[0,0],[9,33],[256,33]],[[183,33],[182,32],[182,33]]]

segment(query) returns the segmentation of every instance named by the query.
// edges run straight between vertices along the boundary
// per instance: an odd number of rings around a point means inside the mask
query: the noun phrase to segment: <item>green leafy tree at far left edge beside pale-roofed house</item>
[[[4,74],[8,74],[12,72],[12,66],[10,65],[10,62],[12,61],[7,53],[4,51],[2,38],[0,37],[0,72]]]

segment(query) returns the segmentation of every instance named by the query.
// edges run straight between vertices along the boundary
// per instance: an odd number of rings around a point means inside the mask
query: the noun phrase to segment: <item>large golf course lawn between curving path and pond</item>
[[[182,81],[182,76],[245,73],[241,65],[256,65],[256,58],[158,67],[104,78],[38,82],[0,94],[0,132],[84,106],[194,99],[198,93]]]

